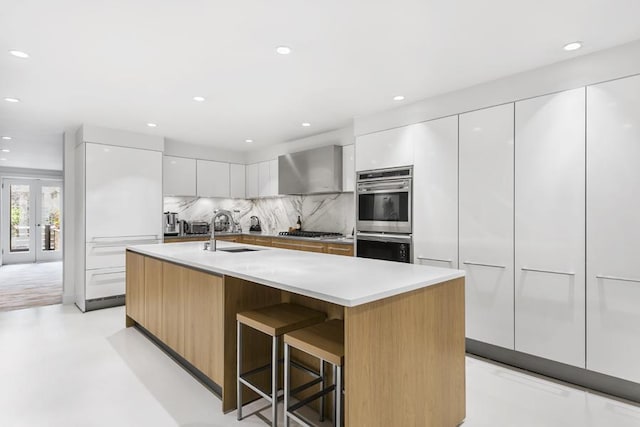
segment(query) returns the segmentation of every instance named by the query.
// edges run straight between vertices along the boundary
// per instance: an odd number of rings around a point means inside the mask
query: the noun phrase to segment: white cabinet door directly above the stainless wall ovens
[[[413,141],[419,134],[416,124],[357,137],[356,171],[413,165]]]

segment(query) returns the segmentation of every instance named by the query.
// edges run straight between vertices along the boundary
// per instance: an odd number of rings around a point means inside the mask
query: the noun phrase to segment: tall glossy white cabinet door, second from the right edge
[[[585,89],[515,108],[515,349],[584,368]]]

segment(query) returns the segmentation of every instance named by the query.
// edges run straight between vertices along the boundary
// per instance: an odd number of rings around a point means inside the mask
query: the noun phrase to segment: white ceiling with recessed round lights
[[[394,95],[409,103],[640,38],[637,0],[0,0],[0,11],[0,98],[22,100],[0,101],[0,134],[23,135],[14,145],[91,123],[255,149],[393,108]],[[574,40],[584,48],[562,50]]]

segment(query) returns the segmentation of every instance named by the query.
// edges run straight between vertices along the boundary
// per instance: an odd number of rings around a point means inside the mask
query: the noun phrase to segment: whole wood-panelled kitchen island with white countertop
[[[234,248],[255,250],[226,251]],[[344,320],[347,426],[464,420],[464,272],[230,242],[218,249],[128,248],[126,321],[216,384],[224,411],[236,407],[236,313],[292,302]],[[261,338],[246,341],[247,369],[268,360]]]

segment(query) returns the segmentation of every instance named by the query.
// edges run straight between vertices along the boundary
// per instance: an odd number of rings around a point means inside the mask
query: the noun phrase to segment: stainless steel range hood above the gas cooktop
[[[278,194],[341,191],[341,146],[329,145],[278,157]]]

